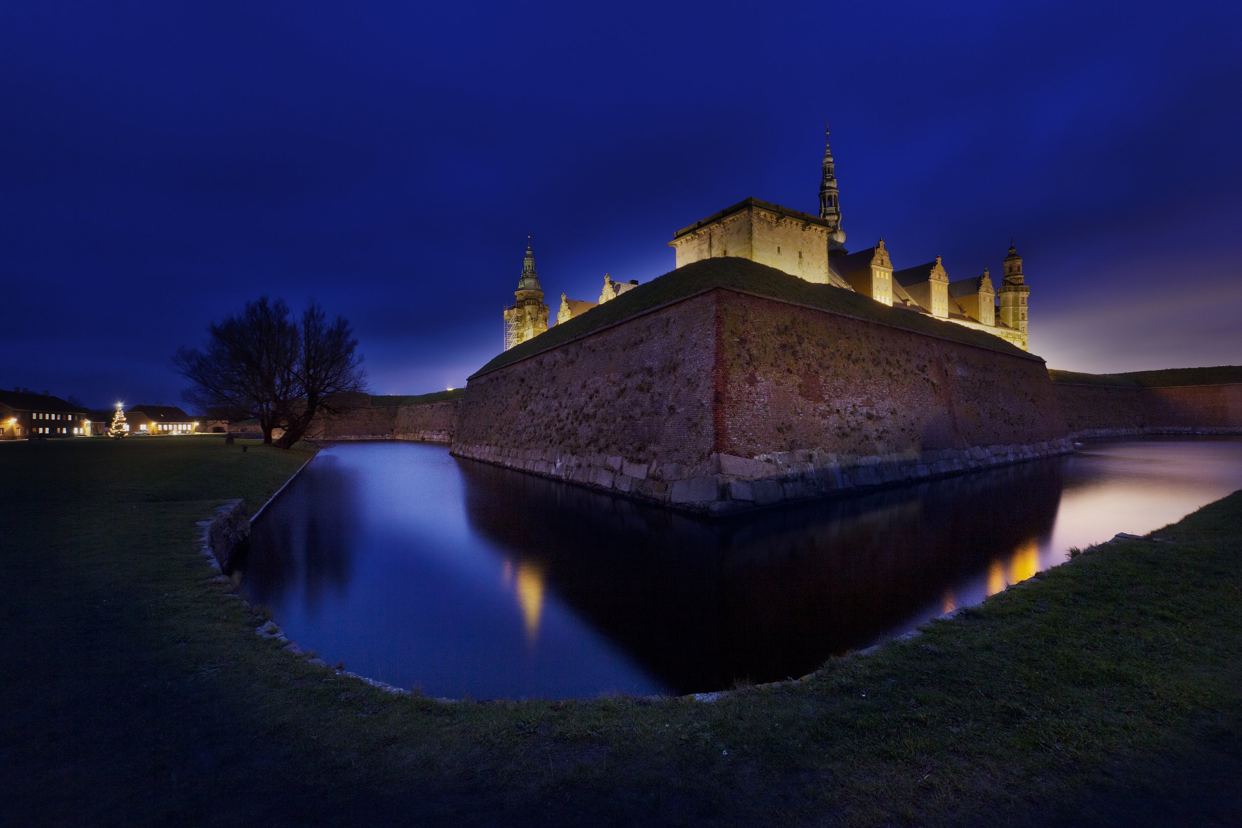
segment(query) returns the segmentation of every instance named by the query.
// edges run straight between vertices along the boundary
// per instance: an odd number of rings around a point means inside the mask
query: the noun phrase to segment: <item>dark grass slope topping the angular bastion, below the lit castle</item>
[[[854,319],[876,322],[891,328],[900,328],[918,334],[928,334],[940,339],[976,345],[1002,354],[1040,359],[1038,356],[1027,354],[1021,348],[981,330],[941,322],[922,313],[910,313],[905,308],[891,308],[861,293],[831,284],[807,282],[748,258],[724,256],[692,262],[640,284],[632,290],[626,290],[625,294],[616,299],[594,308],[591,313],[585,313],[580,317],[574,317],[569,322],[554,325],[538,336],[498,354],[487,365],[476,371],[472,377],[494,371],[528,356],[534,356],[579,336],[609,328],[656,308],[662,308],[713,289],[734,290],[789,302]]]

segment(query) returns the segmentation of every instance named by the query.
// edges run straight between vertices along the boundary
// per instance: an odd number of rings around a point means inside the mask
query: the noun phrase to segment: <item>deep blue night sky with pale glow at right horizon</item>
[[[10,2],[0,387],[175,402],[246,299],[348,317],[379,394],[672,268],[746,196],[950,278],[1026,258],[1053,367],[1242,362],[1237,4]]]

